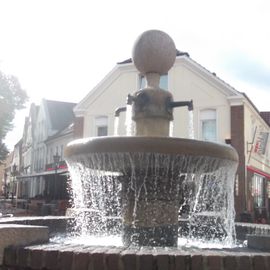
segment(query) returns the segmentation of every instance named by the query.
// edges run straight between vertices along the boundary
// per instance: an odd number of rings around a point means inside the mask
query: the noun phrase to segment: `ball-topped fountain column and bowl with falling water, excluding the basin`
[[[166,33],[150,30],[139,36],[133,62],[147,86],[127,97],[135,135],[80,139],[67,146],[80,233],[106,233],[118,219],[124,246],[177,246],[179,210],[185,206],[188,236],[204,236],[201,228],[209,225],[193,225],[210,215],[221,241],[233,242],[238,155],[228,145],[169,137],[173,108],[193,109],[192,101],[174,101],[159,87],[175,57]]]

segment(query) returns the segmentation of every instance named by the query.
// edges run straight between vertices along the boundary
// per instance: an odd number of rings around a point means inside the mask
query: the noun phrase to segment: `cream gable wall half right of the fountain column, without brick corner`
[[[207,80],[198,71],[178,60],[169,72],[169,90],[174,100],[193,100],[195,138],[201,139],[200,115],[202,110],[217,112],[217,141],[224,143],[230,137],[230,105],[228,94]],[[189,113],[186,108],[174,110],[174,136],[188,138]]]

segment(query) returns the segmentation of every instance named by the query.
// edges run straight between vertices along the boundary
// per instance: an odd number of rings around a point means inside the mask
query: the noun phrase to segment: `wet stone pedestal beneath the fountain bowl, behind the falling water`
[[[130,178],[122,181],[123,244],[177,246],[179,188],[173,177],[145,174],[135,186]]]

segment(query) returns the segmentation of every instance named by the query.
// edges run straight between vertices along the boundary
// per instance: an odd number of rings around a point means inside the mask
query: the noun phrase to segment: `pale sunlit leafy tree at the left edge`
[[[16,110],[25,108],[27,100],[28,96],[21,88],[19,80],[0,71],[0,164],[8,154],[3,140],[13,128]]]

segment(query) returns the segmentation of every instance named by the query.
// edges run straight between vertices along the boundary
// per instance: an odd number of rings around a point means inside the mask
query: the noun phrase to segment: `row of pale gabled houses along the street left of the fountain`
[[[18,198],[67,199],[67,166],[63,149],[73,139],[75,103],[43,99],[38,109],[31,106],[23,134],[22,161]],[[54,161],[54,156],[59,160]]]

